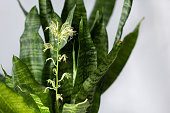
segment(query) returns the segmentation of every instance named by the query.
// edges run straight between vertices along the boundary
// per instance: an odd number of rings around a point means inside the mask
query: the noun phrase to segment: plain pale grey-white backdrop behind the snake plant
[[[38,1],[38,0],[37,0]],[[21,0],[30,10],[35,0]],[[94,0],[84,0],[88,17]],[[117,0],[107,27],[109,48],[116,34],[123,0]],[[53,0],[60,15],[64,0]],[[170,113],[170,0],[134,0],[123,36],[145,17],[135,49],[116,82],[102,95],[99,113]],[[0,64],[11,74],[19,55],[25,17],[16,0],[0,0]],[[2,73],[2,70],[0,70]]]

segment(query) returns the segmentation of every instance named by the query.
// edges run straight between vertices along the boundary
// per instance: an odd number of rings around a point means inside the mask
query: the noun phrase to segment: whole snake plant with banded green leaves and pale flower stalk
[[[2,68],[0,113],[97,113],[101,95],[118,77],[138,37],[141,21],[121,39],[133,0],[124,0],[110,52],[106,26],[116,0],[96,0],[89,19],[83,0],[65,0],[61,16],[50,0],[39,0],[39,13],[36,6],[27,13],[18,2],[25,29],[12,76]]]

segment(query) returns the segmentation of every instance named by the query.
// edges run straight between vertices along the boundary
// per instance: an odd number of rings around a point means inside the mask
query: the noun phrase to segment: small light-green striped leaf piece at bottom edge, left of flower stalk
[[[41,99],[34,94],[30,94],[31,97],[35,100],[36,104],[38,105],[40,109],[40,113],[50,113],[49,108],[44,106],[43,103],[41,102]]]

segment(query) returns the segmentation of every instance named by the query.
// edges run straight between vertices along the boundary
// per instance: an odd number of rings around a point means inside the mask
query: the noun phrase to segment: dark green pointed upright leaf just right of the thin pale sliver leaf
[[[83,18],[79,27],[79,53],[77,64],[77,76],[75,81],[75,91],[79,91],[82,83],[97,68],[97,52],[90,36],[87,25],[84,24]],[[86,21],[86,20],[85,20]]]

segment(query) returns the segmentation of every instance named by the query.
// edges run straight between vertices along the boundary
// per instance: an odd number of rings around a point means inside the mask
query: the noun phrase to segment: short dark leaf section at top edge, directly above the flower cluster
[[[70,10],[75,6],[76,0],[65,0],[64,8],[61,13],[61,20],[64,23],[68,17]]]

